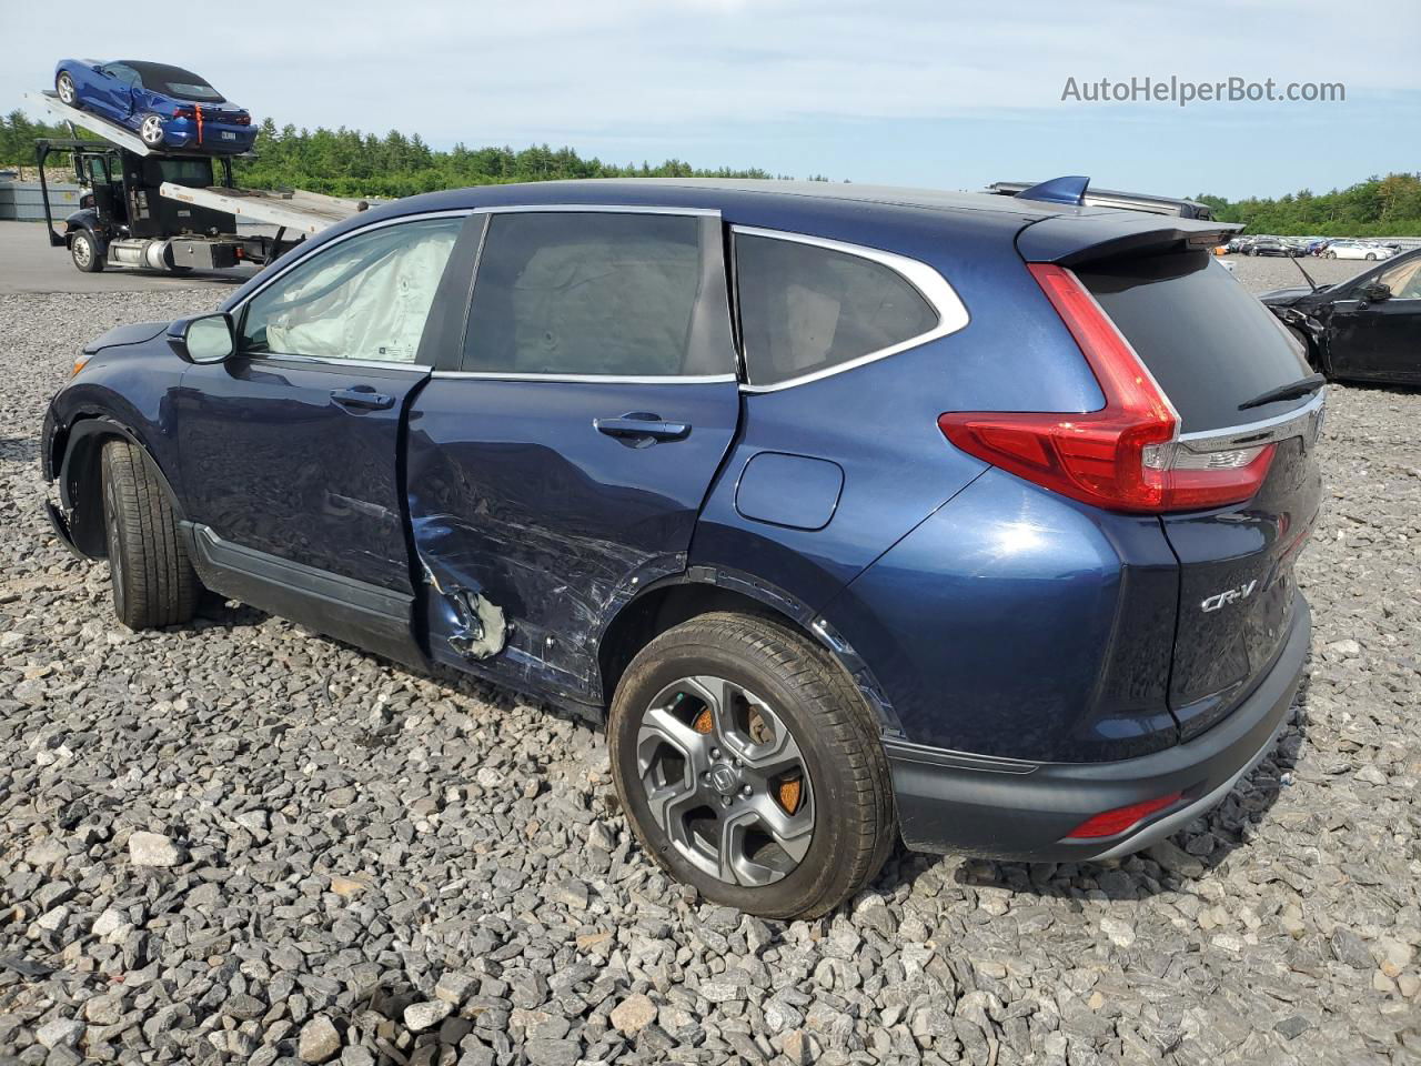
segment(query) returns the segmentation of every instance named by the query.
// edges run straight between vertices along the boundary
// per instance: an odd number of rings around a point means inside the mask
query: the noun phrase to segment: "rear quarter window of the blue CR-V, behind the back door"
[[[831,370],[938,325],[902,274],[863,256],[736,233],[735,269],[752,385]]]

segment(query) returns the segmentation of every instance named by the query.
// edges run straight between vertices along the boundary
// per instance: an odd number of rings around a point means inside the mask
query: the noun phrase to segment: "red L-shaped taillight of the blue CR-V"
[[[1066,323],[1106,405],[1084,414],[949,412],[938,426],[993,466],[1107,510],[1161,513],[1239,503],[1258,492],[1273,445],[1196,452],[1179,416],[1134,350],[1076,276],[1027,269]]]

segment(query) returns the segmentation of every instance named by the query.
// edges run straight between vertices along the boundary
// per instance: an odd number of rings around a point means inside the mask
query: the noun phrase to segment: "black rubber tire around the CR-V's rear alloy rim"
[[[658,694],[699,675],[759,694],[803,756],[813,834],[800,861],[772,883],[733,884],[702,870],[651,813],[638,763],[644,718]],[[622,675],[607,735],[617,793],[641,846],[715,903],[766,918],[818,917],[877,876],[897,841],[892,777],[872,712],[823,648],[770,618],[703,614],[657,637]]]

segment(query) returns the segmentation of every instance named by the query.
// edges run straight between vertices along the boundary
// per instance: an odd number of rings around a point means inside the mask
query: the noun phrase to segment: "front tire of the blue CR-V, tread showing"
[[[190,621],[202,584],[163,486],[128,441],[104,445],[102,468],[114,613],[131,630]]]

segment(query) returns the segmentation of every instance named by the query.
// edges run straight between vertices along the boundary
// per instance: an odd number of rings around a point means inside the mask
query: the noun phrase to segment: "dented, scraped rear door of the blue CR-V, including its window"
[[[462,370],[409,414],[429,652],[597,702],[598,638],[685,569],[739,387],[719,217],[490,215]]]

